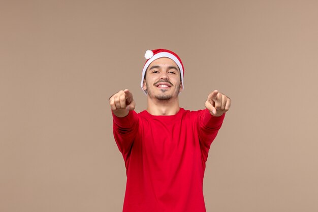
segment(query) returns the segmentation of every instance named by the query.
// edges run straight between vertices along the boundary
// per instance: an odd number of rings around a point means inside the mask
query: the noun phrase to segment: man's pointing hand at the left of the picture
[[[129,111],[134,110],[136,105],[133,94],[129,89],[120,90],[118,93],[111,96],[109,98],[109,104],[117,117],[128,115]]]

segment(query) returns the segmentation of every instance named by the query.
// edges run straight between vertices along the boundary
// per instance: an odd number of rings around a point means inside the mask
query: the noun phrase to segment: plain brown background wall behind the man
[[[180,105],[232,108],[213,142],[207,211],[318,211],[317,1],[1,1],[0,211],[121,211],[108,97],[145,50],[176,51]]]

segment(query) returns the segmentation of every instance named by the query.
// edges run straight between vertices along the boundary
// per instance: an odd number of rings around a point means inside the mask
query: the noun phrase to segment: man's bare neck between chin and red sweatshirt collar
[[[158,100],[148,97],[147,111],[151,115],[175,115],[180,110],[179,99]]]

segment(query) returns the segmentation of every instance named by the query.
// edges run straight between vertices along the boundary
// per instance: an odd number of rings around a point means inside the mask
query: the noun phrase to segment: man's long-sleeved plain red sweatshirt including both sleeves
[[[203,177],[225,114],[180,108],[175,115],[113,114],[127,183],[123,212],[204,212]]]

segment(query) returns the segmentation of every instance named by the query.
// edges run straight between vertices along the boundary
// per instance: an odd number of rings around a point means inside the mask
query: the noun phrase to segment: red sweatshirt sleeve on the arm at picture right
[[[221,116],[213,116],[208,109],[200,111],[198,115],[200,146],[205,162],[208,158],[211,143],[215,139],[218,130],[221,128],[224,117],[225,113]]]

